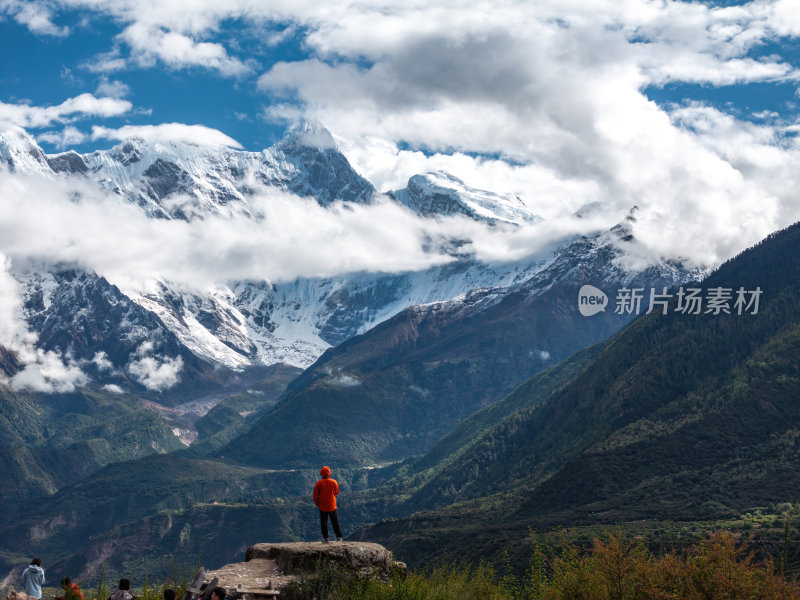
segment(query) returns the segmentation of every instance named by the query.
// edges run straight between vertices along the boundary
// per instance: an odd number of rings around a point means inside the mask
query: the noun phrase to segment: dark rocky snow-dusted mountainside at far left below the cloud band
[[[208,360],[207,352],[195,352],[157,313],[103,277],[71,269],[17,277],[21,310],[36,346],[111,391],[160,397],[169,389],[178,401],[250,384],[224,363]]]

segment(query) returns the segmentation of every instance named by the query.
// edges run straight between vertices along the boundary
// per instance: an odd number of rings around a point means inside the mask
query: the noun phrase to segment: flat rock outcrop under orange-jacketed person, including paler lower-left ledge
[[[256,544],[247,549],[245,561],[210,571],[206,579],[216,577],[229,597],[247,600],[276,595],[300,575],[314,573],[320,562],[382,579],[406,568],[389,550],[371,542]]]

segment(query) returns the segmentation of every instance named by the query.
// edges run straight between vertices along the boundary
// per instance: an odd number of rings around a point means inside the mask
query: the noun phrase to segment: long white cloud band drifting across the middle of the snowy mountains
[[[255,185],[255,184],[254,184]],[[258,219],[148,218],[81,180],[0,173],[0,251],[15,266],[77,264],[130,291],[154,278],[205,289],[232,280],[291,280],[356,271],[409,271],[452,260],[431,239],[477,237],[466,218],[424,220],[390,201],[319,206],[275,189],[251,200]]]

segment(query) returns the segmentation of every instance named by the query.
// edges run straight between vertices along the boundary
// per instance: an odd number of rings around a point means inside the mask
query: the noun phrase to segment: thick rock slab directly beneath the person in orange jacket
[[[372,542],[291,542],[256,544],[247,549],[245,560],[273,559],[284,573],[304,573],[317,569],[320,561],[330,561],[361,575],[388,577],[392,569],[405,570],[392,553]]]

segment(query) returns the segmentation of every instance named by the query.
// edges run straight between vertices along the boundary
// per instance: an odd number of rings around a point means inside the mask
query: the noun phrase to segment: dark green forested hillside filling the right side
[[[799,259],[794,226],[729,261],[701,287],[758,286],[758,314],[637,320],[439,469],[431,481],[465,504],[360,536],[442,558],[465,533],[496,550],[528,527],[704,521],[797,501]]]

